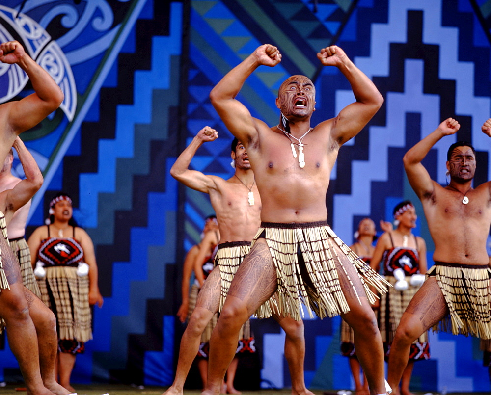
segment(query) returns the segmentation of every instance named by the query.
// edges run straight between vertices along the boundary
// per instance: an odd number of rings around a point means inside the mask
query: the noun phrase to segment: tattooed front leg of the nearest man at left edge
[[[19,263],[5,239],[0,237],[2,264],[10,290],[0,292],[0,316],[7,326],[7,339],[27,387],[27,394],[53,394],[44,387],[39,369],[36,328],[29,316]]]

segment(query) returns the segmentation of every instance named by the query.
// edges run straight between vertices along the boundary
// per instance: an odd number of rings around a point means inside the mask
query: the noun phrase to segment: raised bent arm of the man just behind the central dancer
[[[214,141],[218,138],[218,132],[215,129],[205,126],[198,134],[194,136],[191,144],[186,147],[181,155],[176,159],[170,168],[170,175],[177,181],[189,186],[200,192],[210,193],[211,188],[215,188],[213,181],[215,176],[207,176],[200,171],[190,170],[191,159],[201,144],[206,141]]]

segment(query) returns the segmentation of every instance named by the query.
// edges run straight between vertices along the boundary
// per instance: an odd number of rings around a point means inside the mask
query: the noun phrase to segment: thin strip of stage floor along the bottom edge
[[[6,387],[0,388],[1,395],[19,395],[25,394],[26,390],[19,387],[20,384],[7,384]],[[152,394],[158,395],[162,394],[166,387],[145,387],[143,389],[138,389],[131,387],[129,385],[116,385],[116,384],[93,384],[93,385],[76,385],[78,395],[137,395],[137,394]],[[313,390],[317,395],[336,395],[337,392],[333,390]],[[197,390],[185,390],[185,395],[199,395],[199,391]],[[288,388],[282,390],[261,390],[261,391],[244,391],[243,395],[291,395],[291,391]],[[490,395],[488,393],[447,393],[447,395]],[[414,393],[414,395],[424,395],[423,393]],[[433,395],[439,395],[438,393],[433,393]]]

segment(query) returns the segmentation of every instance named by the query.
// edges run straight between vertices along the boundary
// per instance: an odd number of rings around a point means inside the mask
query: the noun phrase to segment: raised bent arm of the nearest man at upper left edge
[[[20,134],[55,111],[63,101],[63,93],[49,73],[27,55],[17,41],[0,44],[0,61],[17,64],[26,72],[34,88],[34,93],[24,99],[1,106],[7,131]]]

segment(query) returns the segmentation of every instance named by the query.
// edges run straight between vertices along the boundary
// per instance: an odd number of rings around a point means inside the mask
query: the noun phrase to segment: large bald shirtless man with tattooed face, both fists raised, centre
[[[321,318],[341,314],[355,331],[356,352],[370,392],[385,394],[382,339],[370,307],[375,296],[368,285],[381,292],[386,288],[326,221],[327,186],[338,150],[370,121],[383,98],[339,47],[324,48],[317,57],[324,66],[338,67],[356,102],[313,129],[315,88],[305,76],[292,76],[281,84],[276,99],[280,123],[271,128],[235,99],[257,67],[280,62],[281,54],[273,45],[258,47],[210,93],[225,126],[245,145],[262,196],[263,222],[213,331],[205,393],[218,394],[241,325],[278,291],[282,315],[300,320],[301,302]]]

